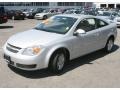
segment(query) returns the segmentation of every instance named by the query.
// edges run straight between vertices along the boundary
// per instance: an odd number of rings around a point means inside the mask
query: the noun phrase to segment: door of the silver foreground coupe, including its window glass
[[[93,52],[99,47],[100,30],[96,30],[96,22],[94,18],[86,18],[80,21],[76,30],[83,29],[85,34],[73,36],[73,56],[79,57],[87,53]]]

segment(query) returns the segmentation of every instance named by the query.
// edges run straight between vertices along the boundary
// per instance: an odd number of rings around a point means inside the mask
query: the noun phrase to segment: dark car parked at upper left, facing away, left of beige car
[[[26,17],[25,14],[20,10],[10,10],[7,12],[7,16],[9,19],[13,20],[24,20]]]

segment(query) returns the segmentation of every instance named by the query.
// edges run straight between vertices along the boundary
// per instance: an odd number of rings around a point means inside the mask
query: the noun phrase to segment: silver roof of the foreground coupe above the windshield
[[[65,16],[65,17],[73,17],[73,18],[87,18],[87,17],[94,17],[93,15],[83,15],[83,14],[59,14],[55,16]]]

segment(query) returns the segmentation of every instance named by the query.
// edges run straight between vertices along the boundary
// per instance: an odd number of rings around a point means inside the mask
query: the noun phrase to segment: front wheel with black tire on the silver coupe
[[[50,59],[49,69],[53,73],[62,72],[67,61],[66,59],[67,58],[63,50],[56,51]]]

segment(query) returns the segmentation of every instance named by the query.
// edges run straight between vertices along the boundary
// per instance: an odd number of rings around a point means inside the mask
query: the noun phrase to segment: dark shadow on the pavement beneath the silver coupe
[[[115,52],[118,49],[119,49],[119,46],[115,45],[113,47],[113,50],[112,50],[111,53]],[[109,53],[109,54],[111,54],[111,53]],[[103,50],[99,50],[99,51],[93,52],[91,54],[76,58],[76,59],[70,61],[66,65],[63,72],[59,73],[59,74],[53,74],[48,69],[42,69],[42,70],[36,70],[36,71],[24,71],[24,70],[20,70],[20,69],[17,69],[15,67],[12,67],[10,65],[8,65],[8,67],[13,72],[15,72],[15,73],[17,73],[19,75],[22,75],[22,76],[24,76],[26,78],[39,79],[39,78],[46,78],[46,77],[50,77],[50,76],[61,76],[64,73],[66,73],[68,71],[71,71],[71,70],[73,70],[73,69],[75,69],[75,68],[77,68],[79,66],[85,65],[85,64],[91,64],[92,65],[92,64],[94,64],[94,62],[92,62],[92,61],[95,61],[98,58],[104,57],[106,55],[108,55],[108,53],[103,52]]]

